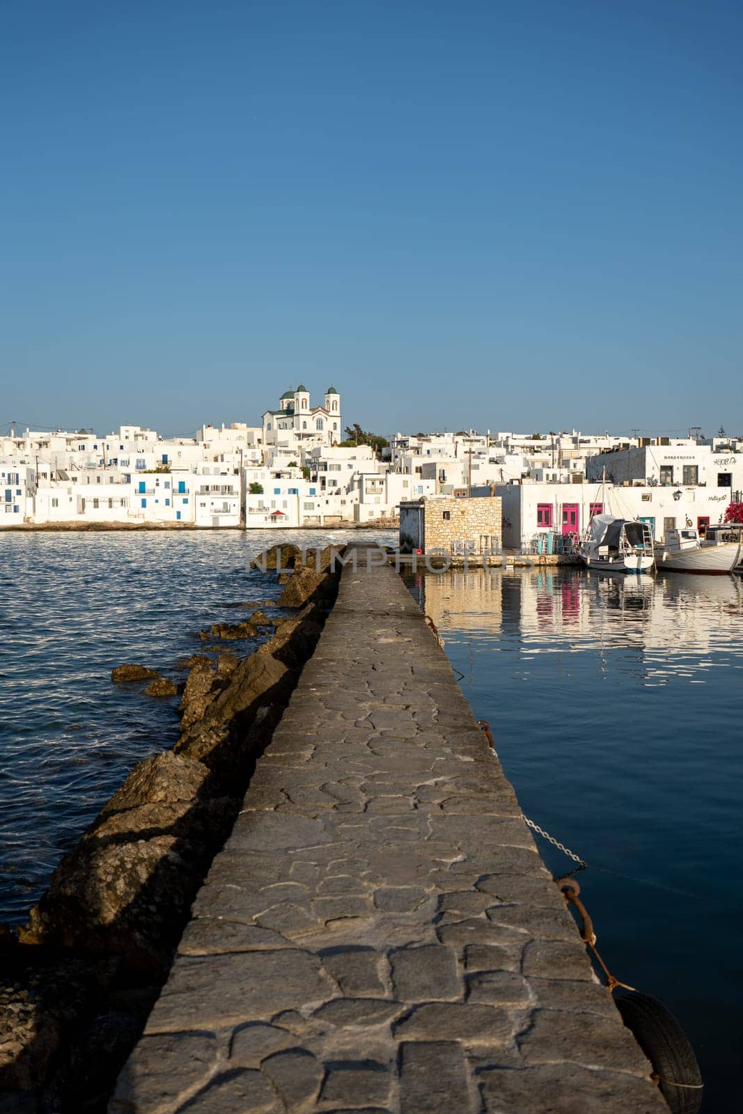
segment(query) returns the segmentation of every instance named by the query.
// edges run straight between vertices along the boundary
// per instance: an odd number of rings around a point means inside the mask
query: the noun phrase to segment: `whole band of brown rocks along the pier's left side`
[[[287,548],[292,570],[276,604],[291,614],[252,654],[194,655],[179,663],[188,665],[179,686],[147,666],[114,671],[118,683],[182,691],[179,737],[135,766],[28,924],[0,926],[2,1114],[105,1110],[338,592],[330,549],[303,564]],[[263,558],[276,568],[273,550]],[[273,625],[254,613],[242,637]],[[234,637],[218,626],[213,637]]]

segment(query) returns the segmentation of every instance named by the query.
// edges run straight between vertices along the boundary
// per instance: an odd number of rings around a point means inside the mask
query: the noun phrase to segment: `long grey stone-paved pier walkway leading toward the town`
[[[346,567],[111,1114],[667,1114],[519,812],[399,576]]]

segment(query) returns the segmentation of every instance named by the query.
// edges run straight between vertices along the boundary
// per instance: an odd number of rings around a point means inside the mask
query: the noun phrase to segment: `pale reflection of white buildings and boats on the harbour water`
[[[408,583],[442,634],[497,638],[493,649],[518,649],[525,658],[635,649],[647,684],[704,672],[715,651],[743,667],[740,577],[473,569],[418,574]]]

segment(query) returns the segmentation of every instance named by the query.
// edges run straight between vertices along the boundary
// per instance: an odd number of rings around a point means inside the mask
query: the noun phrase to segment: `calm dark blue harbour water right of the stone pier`
[[[598,948],[741,1103],[743,580],[409,576],[525,813],[588,861]],[[569,863],[544,840],[555,874]]]

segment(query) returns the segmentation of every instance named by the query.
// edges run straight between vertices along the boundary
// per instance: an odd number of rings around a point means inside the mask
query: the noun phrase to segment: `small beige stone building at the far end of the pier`
[[[499,496],[475,499],[428,496],[400,504],[400,549],[412,553],[498,553],[501,544]]]

